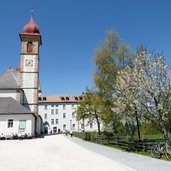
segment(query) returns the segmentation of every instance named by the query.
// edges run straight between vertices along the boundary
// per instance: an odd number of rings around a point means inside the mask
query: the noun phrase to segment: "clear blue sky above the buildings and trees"
[[[31,17],[42,35],[43,95],[81,94],[94,86],[94,54],[107,31],[133,52],[139,44],[163,52],[171,65],[170,0],[1,0],[0,74],[20,62],[19,33]]]

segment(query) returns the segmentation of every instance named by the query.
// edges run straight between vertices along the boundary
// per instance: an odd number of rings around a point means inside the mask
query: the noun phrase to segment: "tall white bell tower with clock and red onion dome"
[[[42,45],[42,39],[32,16],[20,33],[20,39],[20,85],[24,91],[23,105],[38,115],[39,47]]]

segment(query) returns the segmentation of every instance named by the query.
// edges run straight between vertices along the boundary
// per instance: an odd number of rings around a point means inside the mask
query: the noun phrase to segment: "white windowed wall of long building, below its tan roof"
[[[46,106],[46,107],[45,107]],[[65,106],[65,107],[64,107]],[[97,124],[94,122],[92,123],[92,128],[90,127],[90,123],[88,120],[77,121],[76,120],[76,109],[78,104],[77,103],[61,103],[61,102],[54,102],[54,103],[39,103],[39,115],[43,119],[43,123],[47,122],[49,124],[48,133],[52,131],[54,133],[54,127],[56,130],[60,129],[61,131],[73,130],[73,131],[97,131]],[[56,112],[57,110],[57,112]],[[54,111],[54,114],[52,113]],[[45,114],[47,118],[45,118]],[[64,115],[66,117],[64,118]],[[54,124],[52,123],[52,119],[54,120]],[[58,122],[56,122],[58,120]],[[66,127],[64,126],[66,125]]]

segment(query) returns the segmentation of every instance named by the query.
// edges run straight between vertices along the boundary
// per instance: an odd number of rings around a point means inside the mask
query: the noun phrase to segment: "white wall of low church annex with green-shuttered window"
[[[8,128],[8,120],[13,119],[13,127]],[[26,120],[26,128],[24,130],[19,129],[19,121]],[[1,115],[0,117],[0,135],[11,135],[12,133],[29,133],[34,136],[35,117],[32,114],[20,114],[20,115]]]

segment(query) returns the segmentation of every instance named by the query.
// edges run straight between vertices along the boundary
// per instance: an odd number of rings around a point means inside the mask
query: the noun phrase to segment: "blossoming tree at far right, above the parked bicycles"
[[[169,69],[161,54],[147,54],[140,51],[137,65],[144,68],[140,103],[146,110],[144,116],[168,137],[171,114],[171,84]]]

